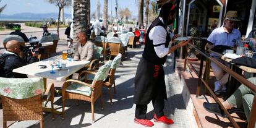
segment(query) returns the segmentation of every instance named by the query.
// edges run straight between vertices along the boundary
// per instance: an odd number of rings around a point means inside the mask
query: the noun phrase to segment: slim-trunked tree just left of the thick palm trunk
[[[72,0],[48,0],[49,3],[55,4],[59,7],[59,14],[58,14],[58,22],[57,22],[57,33],[59,35],[59,19],[61,17],[61,9],[65,6],[70,6],[72,4]]]

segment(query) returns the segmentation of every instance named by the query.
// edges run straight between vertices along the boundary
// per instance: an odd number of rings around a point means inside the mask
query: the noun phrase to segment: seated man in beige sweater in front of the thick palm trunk
[[[81,59],[85,61],[91,61],[93,59],[93,43],[87,41],[87,34],[85,32],[79,32],[77,35],[77,48],[75,49],[74,59]]]

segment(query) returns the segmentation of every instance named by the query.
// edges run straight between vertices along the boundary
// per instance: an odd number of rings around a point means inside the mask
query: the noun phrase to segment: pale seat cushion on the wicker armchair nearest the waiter
[[[79,83],[72,83],[71,85],[69,85],[69,87],[67,87],[66,91],[72,93],[79,93],[86,96],[92,95],[92,89],[90,87]]]

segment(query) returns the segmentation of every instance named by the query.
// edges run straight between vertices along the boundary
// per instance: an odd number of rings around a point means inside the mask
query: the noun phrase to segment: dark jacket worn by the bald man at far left
[[[4,53],[0,58],[6,58],[3,65],[3,73],[4,77],[6,78],[27,78],[27,75],[12,72],[12,70],[37,61],[36,58],[32,58],[27,63],[24,59],[20,58],[20,56],[15,53]]]

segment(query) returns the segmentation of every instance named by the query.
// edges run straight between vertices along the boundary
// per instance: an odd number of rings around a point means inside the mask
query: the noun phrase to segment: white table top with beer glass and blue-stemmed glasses
[[[56,58],[56,56],[54,56],[53,58]],[[13,72],[62,81],[62,80],[66,80],[66,78],[69,77],[69,75],[77,72],[77,70],[82,69],[85,65],[90,64],[90,61],[83,61],[83,60],[80,60],[80,61],[68,61],[68,59],[61,60],[67,63],[66,64],[67,69],[60,70],[58,67],[54,66],[54,72],[56,73],[50,74],[52,67],[50,66],[48,60],[49,59],[44,59],[39,62],[28,64],[27,66],[19,67],[17,69],[14,69]],[[46,69],[40,69],[38,67],[39,65],[45,65],[47,67]]]

